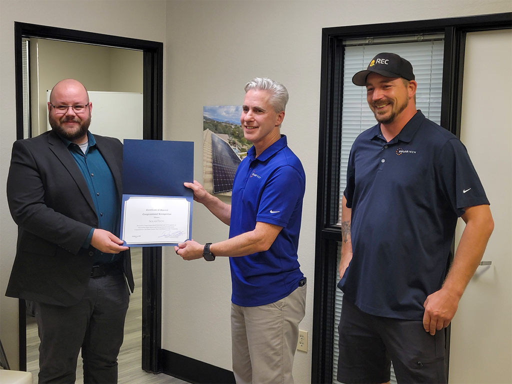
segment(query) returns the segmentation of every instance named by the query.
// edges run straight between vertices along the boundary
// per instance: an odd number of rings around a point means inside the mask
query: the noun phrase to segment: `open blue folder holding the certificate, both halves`
[[[131,140],[123,144],[119,237],[132,247],[183,243],[192,236],[194,143]]]

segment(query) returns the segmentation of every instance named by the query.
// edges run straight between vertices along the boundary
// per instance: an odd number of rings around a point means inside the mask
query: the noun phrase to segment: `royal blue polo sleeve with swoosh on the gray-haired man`
[[[260,199],[256,221],[286,228],[293,211],[302,206],[306,181],[292,166],[275,170]]]

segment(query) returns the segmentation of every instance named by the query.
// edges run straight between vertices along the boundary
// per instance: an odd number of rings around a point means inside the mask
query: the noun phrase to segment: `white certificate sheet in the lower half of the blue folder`
[[[191,198],[123,195],[120,237],[127,246],[163,246],[190,240]]]

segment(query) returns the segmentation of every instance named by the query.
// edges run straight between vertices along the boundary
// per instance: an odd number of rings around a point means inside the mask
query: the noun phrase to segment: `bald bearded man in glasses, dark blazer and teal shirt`
[[[41,344],[39,383],[117,382],[117,355],[133,292],[119,236],[122,144],[89,132],[92,102],[77,80],[48,102],[51,131],[17,140],[7,198],[18,225],[7,296],[31,303]]]

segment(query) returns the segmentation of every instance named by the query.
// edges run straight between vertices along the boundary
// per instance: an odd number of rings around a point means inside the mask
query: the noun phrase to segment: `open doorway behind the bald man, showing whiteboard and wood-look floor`
[[[24,38],[28,53],[30,78],[24,92],[24,110],[31,111],[24,138],[38,136],[50,130],[47,101],[53,85],[63,78],[79,80],[89,91],[93,103],[90,131],[101,136],[142,139],[143,53],[138,50],[103,47],[76,42]],[[30,101],[30,102],[29,102]],[[29,108],[31,105],[32,108]],[[142,250],[132,249],[132,269],[137,281],[130,297],[126,315],[125,341],[119,352],[119,380],[123,381],[127,367],[140,367],[142,314]],[[39,372],[39,337],[35,317],[27,310],[27,370],[37,383]],[[78,359],[77,382],[82,377],[82,362]]]

